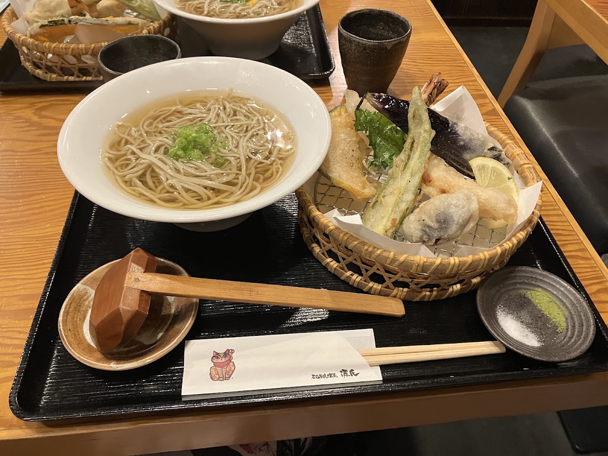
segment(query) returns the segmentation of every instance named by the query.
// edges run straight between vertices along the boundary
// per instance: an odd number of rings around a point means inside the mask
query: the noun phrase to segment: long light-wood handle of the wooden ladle
[[[398,298],[344,291],[232,282],[151,272],[129,272],[126,274],[125,286],[141,289],[151,294],[168,296],[328,309],[393,317],[401,317],[405,314],[403,302]]]

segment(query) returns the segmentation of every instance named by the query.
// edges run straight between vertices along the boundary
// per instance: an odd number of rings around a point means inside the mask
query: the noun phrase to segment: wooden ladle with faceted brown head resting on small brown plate
[[[89,330],[102,353],[129,342],[148,315],[150,295],[271,304],[401,317],[398,298],[263,283],[156,274],[156,258],[135,249],[112,264],[95,289]]]

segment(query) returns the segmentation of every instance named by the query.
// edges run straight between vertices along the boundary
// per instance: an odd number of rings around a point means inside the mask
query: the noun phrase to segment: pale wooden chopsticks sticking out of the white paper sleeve
[[[370,366],[400,364],[402,362],[432,361],[434,359],[464,358],[482,354],[505,353],[505,346],[497,340],[461,342],[458,344],[408,345],[359,350]]]

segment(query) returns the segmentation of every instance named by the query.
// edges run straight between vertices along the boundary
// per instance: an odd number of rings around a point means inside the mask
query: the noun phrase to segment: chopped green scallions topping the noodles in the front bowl
[[[207,123],[181,126],[174,133],[174,138],[167,155],[184,161],[205,160],[228,145],[226,138],[219,137],[215,129]],[[221,168],[225,162],[223,157],[216,157],[212,165]]]

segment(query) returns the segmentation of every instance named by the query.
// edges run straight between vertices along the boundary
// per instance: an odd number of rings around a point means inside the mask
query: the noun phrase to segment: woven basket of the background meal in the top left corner
[[[9,7],[2,15],[2,27],[19,51],[21,64],[30,74],[45,81],[97,81],[102,79],[97,55],[107,43],[64,44],[44,43],[21,35],[10,24],[17,15]],[[153,22],[134,35],[174,36],[177,25],[173,15]]]

